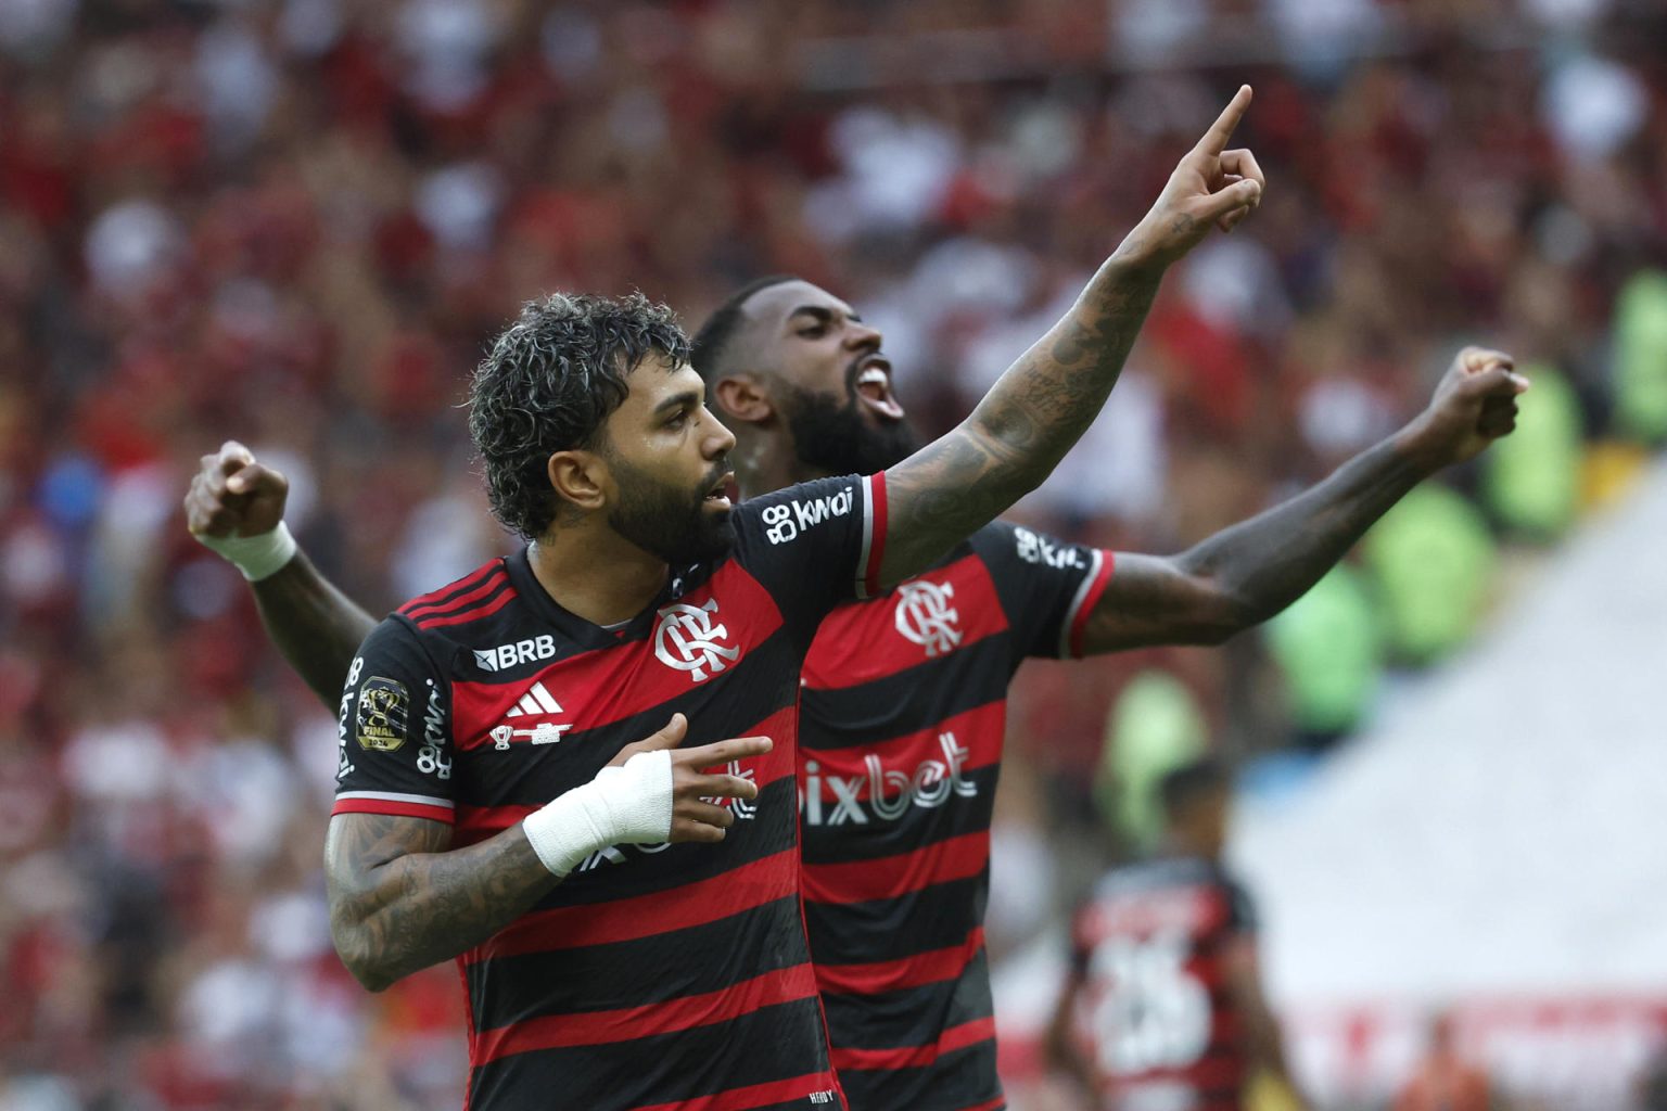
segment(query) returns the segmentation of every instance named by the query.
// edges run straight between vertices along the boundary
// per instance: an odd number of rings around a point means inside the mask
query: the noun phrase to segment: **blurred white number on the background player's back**
[[[1094,949],[1094,1043],[1112,1076],[1187,1068],[1210,1048],[1210,993],[1187,971],[1184,931],[1110,938]]]

